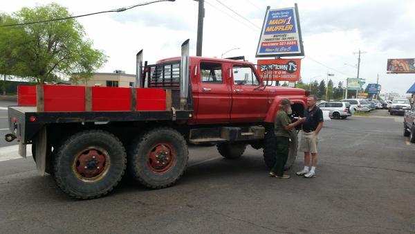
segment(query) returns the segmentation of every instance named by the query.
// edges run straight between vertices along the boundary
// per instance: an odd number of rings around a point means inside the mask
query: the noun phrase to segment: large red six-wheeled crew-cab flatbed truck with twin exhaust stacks
[[[18,106],[8,107],[11,134],[26,157],[32,144],[40,174],[77,199],[107,195],[127,170],[147,188],[172,186],[185,171],[187,144],[214,143],[227,159],[252,145],[275,163],[273,122],[283,98],[302,115],[303,89],[267,87],[254,64],[181,57],[142,65],[137,54],[136,88],[38,85],[19,87]],[[286,168],[297,155],[293,137]]]

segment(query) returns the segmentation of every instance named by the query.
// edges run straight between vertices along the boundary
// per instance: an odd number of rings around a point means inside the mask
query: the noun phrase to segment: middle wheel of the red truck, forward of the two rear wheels
[[[160,127],[138,137],[129,149],[129,173],[147,188],[172,186],[186,169],[189,151],[175,129]]]

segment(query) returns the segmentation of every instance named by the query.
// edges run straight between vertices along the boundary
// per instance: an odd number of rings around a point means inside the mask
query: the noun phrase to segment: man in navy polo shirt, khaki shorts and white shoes
[[[317,97],[314,95],[308,96],[308,108],[304,109],[304,117],[306,121],[302,124],[302,138],[299,143],[299,150],[304,152],[304,169],[296,174],[306,178],[315,177],[315,166],[317,165],[317,143],[318,134],[323,127],[323,111],[315,106]],[[310,153],[312,166],[308,171],[310,165]]]

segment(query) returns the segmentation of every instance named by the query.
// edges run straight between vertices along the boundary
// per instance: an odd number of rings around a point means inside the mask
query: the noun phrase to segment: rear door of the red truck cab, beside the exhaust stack
[[[223,64],[201,61],[199,68],[196,123],[229,123],[231,93]]]

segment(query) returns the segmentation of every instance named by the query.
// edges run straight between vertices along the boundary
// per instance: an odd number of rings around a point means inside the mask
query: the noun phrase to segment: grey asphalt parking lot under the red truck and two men
[[[78,201],[31,158],[0,161],[0,233],[413,233],[415,144],[403,117],[388,115],[326,121],[315,179],[295,176],[301,154],[293,177],[279,180],[261,150],[232,161],[192,146],[176,186],[148,190],[124,177],[109,196]]]

